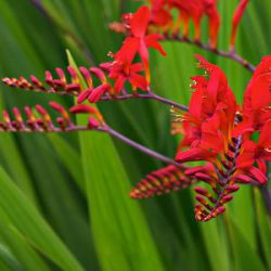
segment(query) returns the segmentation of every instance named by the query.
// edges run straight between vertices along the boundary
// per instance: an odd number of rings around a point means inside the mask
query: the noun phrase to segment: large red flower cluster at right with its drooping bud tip
[[[246,89],[243,106],[236,104],[222,70],[202,56],[196,57],[207,77],[192,78],[194,92],[189,112],[181,116],[184,138],[176,159],[179,163],[209,163],[186,172],[208,182],[218,195],[218,202],[212,198],[216,208],[203,204],[202,197],[198,201],[210,212],[206,214],[197,206],[196,217],[207,221],[221,214],[218,208],[228,196],[229,185],[267,182],[266,162],[271,160],[271,56],[263,57],[257,67]],[[259,139],[255,143],[251,138],[257,133]],[[182,151],[183,147],[189,149]]]

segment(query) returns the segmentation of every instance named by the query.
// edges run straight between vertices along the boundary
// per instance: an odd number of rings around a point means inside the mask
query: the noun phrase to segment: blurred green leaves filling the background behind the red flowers
[[[122,37],[108,23],[140,4],[121,0],[0,0],[0,77],[43,77],[65,68],[68,49],[78,65],[95,65]],[[237,0],[220,0],[219,48],[227,50]],[[204,22],[205,41],[207,22]],[[251,1],[237,51],[253,64],[270,53],[270,0]],[[193,54],[221,65],[242,101],[249,72],[230,60],[182,43],[152,54],[153,88],[188,104]],[[68,96],[0,87],[0,107]],[[169,108],[153,101],[101,103],[108,124],[160,153],[173,156]],[[271,270],[271,221],[257,189],[243,186],[227,212],[208,223],[193,215],[192,190],[134,202],[128,193],[141,177],[163,166],[106,134],[0,134],[0,270]]]

